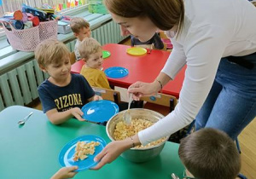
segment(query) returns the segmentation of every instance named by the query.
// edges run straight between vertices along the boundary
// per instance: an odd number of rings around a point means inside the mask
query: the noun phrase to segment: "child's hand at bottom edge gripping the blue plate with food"
[[[78,172],[74,172],[73,170],[77,170],[78,166],[69,166],[69,167],[62,167],[58,170],[51,179],[64,179],[64,178],[73,178]]]

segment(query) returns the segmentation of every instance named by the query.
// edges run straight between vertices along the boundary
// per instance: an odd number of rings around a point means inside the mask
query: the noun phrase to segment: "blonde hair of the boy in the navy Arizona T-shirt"
[[[39,66],[59,63],[67,55],[70,55],[67,46],[55,39],[44,40],[35,49],[35,58]]]

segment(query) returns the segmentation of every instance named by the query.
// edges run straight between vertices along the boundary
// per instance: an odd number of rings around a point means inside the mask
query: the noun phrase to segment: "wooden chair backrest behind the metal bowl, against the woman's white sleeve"
[[[158,93],[157,95],[153,96],[143,96],[141,97],[141,100],[165,107],[170,107],[170,113],[174,110],[174,107],[176,107],[177,105],[177,98],[175,96],[166,95],[162,93]]]

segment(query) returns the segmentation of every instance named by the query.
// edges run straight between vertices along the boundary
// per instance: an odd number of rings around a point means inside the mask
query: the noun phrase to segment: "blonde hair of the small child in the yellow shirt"
[[[95,54],[101,49],[101,43],[98,43],[94,38],[84,38],[84,40],[79,44],[80,56],[85,61],[87,61],[89,55]]]

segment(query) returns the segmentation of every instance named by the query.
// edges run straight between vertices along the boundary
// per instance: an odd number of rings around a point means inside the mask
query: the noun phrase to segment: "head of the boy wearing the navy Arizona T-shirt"
[[[47,39],[39,43],[35,49],[35,58],[42,71],[51,77],[64,77],[70,73],[70,52],[64,43],[55,39]]]

